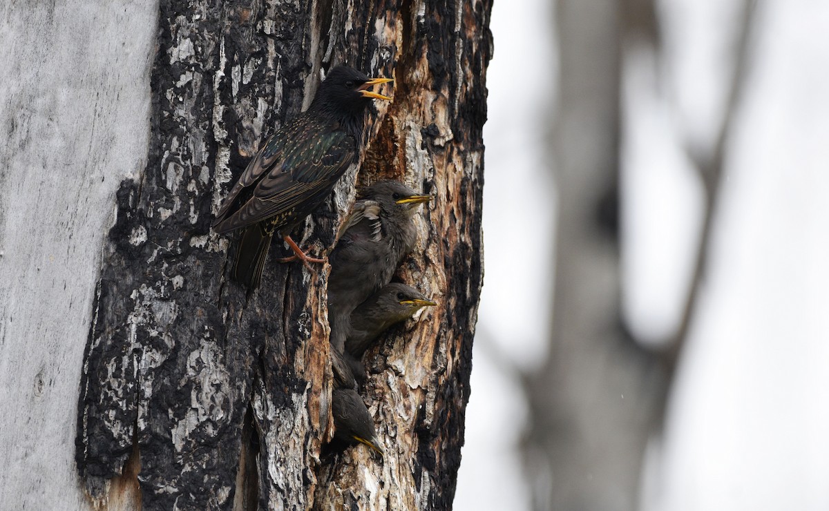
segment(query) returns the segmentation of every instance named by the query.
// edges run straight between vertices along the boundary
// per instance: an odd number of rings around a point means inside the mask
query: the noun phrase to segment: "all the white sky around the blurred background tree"
[[[555,197],[544,130],[555,54],[552,14],[539,13],[550,3],[496,1],[492,12],[486,275],[460,511],[529,509],[516,443],[526,403],[512,371],[533,367],[549,331]],[[646,340],[680,314],[702,191],[677,144],[713,136],[734,5],[663,0],[661,88],[648,55],[626,67],[636,116],[623,150],[625,307]],[[648,456],[648,511],[829,509],[829,2],[760,2],[757,22],[699,315],[664,444]]]

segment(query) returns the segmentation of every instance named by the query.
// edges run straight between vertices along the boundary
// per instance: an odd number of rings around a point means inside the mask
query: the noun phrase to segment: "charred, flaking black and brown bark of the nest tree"
[[[139,464],[145,509],[447,509],[463,445],[482,285],[490,2],[161,2],[148,165],[117,194],[84,360],[77,464],[90,497]],[[439,306],[368,354],[385,442],[321,459],[331,435],[326,279],[269,253],[246,296],[211,219],[259,141],[307,106],[319,71],[395,79],[361,171],[294,233],[330,248],[354,185],[434,195],[398,277]],[[124,470],[122,472],[122,470]],[[120,484],[120,485],[119,485]],[[119,504],[121,505],[121,504]]]

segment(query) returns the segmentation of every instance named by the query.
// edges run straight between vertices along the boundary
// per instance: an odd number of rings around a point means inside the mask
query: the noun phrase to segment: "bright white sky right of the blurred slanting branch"
[[[685,46],[702,41],[706,19],[728,28],[715,20],[724,3],[683,0]],[[829,509],[829,2],[759,9],[654,511]],[[716,71],[717,56],[678,60],[672,86],[690,96],[694,63]],[[689,99],[686,121],[704,121],[691,104],[706,102]]]

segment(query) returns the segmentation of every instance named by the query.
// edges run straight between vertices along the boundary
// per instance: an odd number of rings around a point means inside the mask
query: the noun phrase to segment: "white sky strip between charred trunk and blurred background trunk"
[[[484,286],[456,511],[530,509],[518,444],[527,405],[514,370],[545,356],[555,195],[545,142],[555,96],[552,2],[496,0],[487,70]]]

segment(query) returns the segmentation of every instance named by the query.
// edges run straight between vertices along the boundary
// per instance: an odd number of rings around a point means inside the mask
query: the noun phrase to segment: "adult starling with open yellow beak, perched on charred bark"
[[[259,285],[274,233],[299,258],[309,258],[288,235],[315,210],[356,160],[363,146],[364,113],[371,99],[390,99],[367,90],[388,78],[369,78],[345,66],[332,69],[308,110],[274,133],[236,181],[213,228],[245,228],[233,268],[236,281]]]

